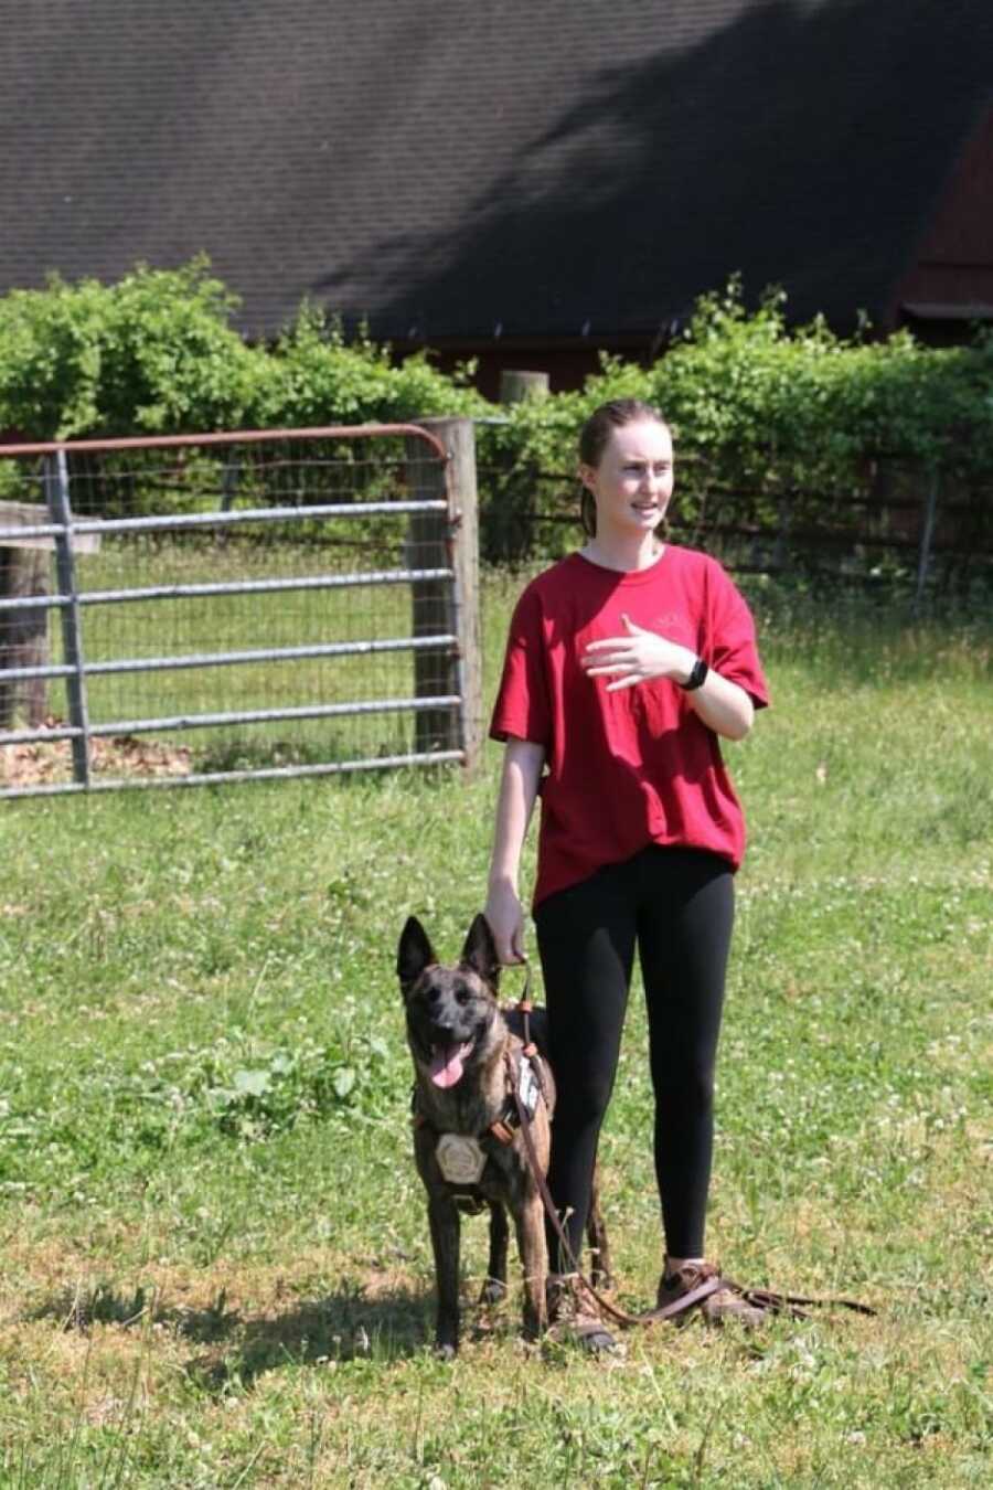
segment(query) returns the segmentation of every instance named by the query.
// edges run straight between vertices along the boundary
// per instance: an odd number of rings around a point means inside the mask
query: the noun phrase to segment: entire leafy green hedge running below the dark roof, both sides
[[[13,291],[0,298],[0,429],[49,440],[499,413],[502,422],[476,428],[484,553],[515,559],[573,541],[575,530],[534,519],[575,511],[587,414],[636,396],[674,426],[683,522],[732,513],[738,526],[774,532],[788,499],[794,524],[844,529],[856,517],[838,498],[869,490],[875,463],[896,457],[939,469],[945,492],[968,490],[969,542],[987,542],[989,334],[953,349],[923,347],[908,332],[843,340],[823,320],[791,328],[782,294],[746,308],[731,280],[700,298],[651,367],[603,356],[582,390],[496,410],[467,372],[447,377],[426,355],[397,364],[313,305],[271,347],[247,346],[231,326],[237,304],[204,259],[138,267],[110,286],[52,279],[45,291]],[[348,477],[350,490],[357,480]],[[94,487],[101,511],[112,498]],[[179,486],[174,499],[186,501]]]

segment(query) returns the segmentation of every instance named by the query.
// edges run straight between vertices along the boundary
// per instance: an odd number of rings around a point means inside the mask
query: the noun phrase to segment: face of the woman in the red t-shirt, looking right
[[[613,429],[596,466],[579,480],[597,504],[597,535],[651,532],[673,495],[673,441],[665,425],[639,419]]]

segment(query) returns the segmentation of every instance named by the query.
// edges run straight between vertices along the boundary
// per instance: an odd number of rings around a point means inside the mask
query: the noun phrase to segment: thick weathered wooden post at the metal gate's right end
[[[421,419],[448,451],[448,466],[426,459],[426,446],[406,440],[408,484],[415,501],[444,498],[448,513],[414,513],[409,526],[412,566],[448,568],[454,583],[421,580],[412,589],[414,636],[448,632],[456,651],[414,653],[414,693],[418,699],[442,693],[462,697],[451,709],[418,711],[417,751],[462,749],[466,770],[482,754],[482,659],[479,645],[479,516],[476,498],[476,444],[470,419]]]

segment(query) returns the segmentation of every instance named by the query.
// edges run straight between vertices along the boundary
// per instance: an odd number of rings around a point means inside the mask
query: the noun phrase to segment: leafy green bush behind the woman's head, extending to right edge
[[[518,404],[506,410],[506,425],[482,432],[487,463],[524,474],[497,484],[500,502],[517,504],[518,532],[534,517],[578,510],[570,481],[578,434],[612,398],[654,404],[673,425],[685,522],[706,507],[713,523],[728,508],[738,524],[771,532],[788,498],[795,526],[844,529],[859,517],[838,498],[869,490],[878,462],[892,460],[939,469],[945,492],[969,490],[974,533],[989,539],[990,334],[951,349],[925,347],[905,331],[846,341],[820,319],[791,329],[780,294],[749,311],[732,280],[701,297],[683,335],[652,367],[603,356],[581,392]],[[560,478],[537,481],[539,471]],[[543,547],[561,541],[552,529]]]

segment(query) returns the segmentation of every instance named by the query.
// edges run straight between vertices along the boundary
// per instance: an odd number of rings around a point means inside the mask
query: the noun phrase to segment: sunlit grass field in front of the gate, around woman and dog
[[[432,1357],[392,968],[408,912],[448,954],[479,906],[497,748],[470,784],[6,803],[1,1486],[989,1484],[993,630],[753,597],[710,1252],[878,1317],[598,1365],[526,1350],[514,1293]],[[637,1307],[643,1047],[636,998],[603,1161]]]

